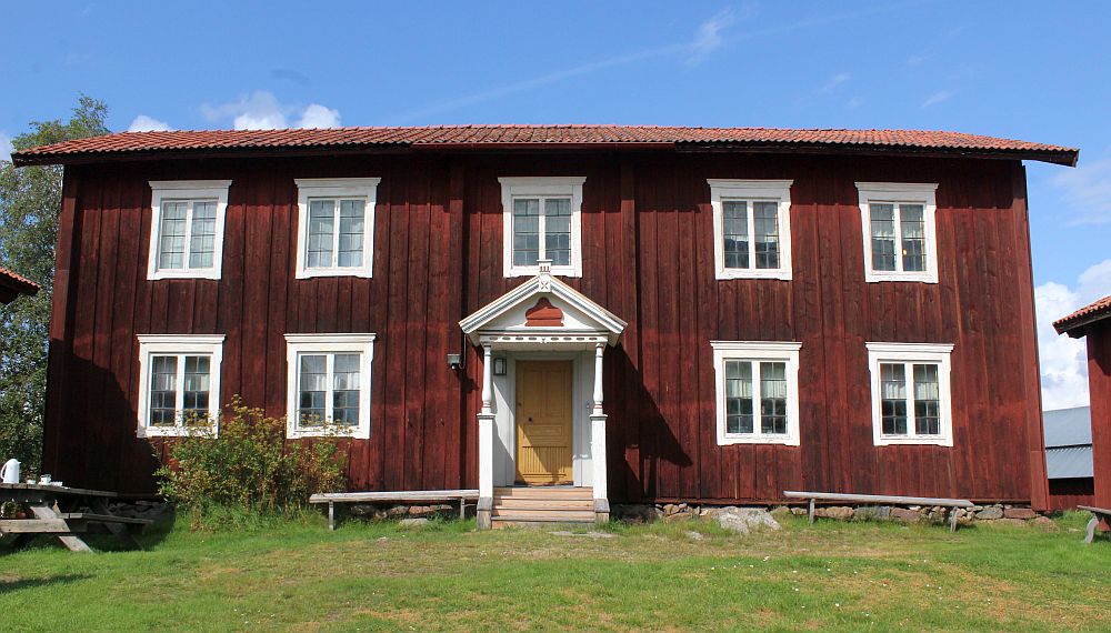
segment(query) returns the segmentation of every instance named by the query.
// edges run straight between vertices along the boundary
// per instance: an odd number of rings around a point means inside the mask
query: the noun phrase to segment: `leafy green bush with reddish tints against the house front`
[[[159,492],[192,515],[192,526],[249,525],[260,515],[301,512],[309,495],[343,486],[334,428],[311,443],[287,442],[284,418],[267,418],[237,398],[217,435],[206,425],[173,441],[158,469]]]

